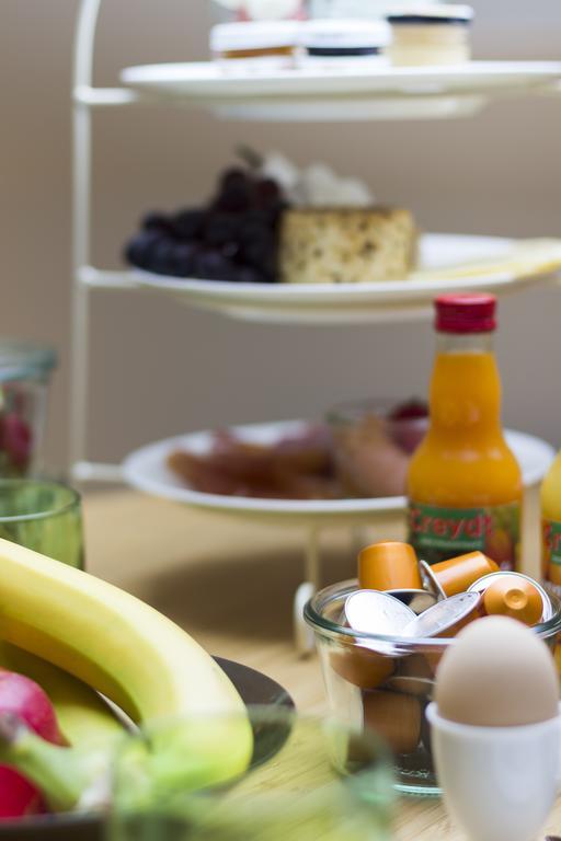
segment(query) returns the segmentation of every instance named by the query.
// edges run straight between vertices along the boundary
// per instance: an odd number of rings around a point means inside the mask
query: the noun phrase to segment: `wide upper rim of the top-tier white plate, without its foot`
[[[278,72],[224,69],[191,62],[128,67],[125,84],[213,104],[216,100],[289,100],[393,96],[446,96],[552,88],[561,79],[558,61],[470,61],[448,67],[383,67],[356,70],[300,68]]]

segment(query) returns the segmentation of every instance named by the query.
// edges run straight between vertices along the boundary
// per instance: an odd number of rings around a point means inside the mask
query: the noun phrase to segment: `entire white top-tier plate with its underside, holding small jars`
[[[180,99],[239,119],[399,119],[469,116],[493,97],[543,93],[557,61],[471,61],[451,67],[301,68],[276,73],[214,62],[145,65],[121,74],[149,96]]]

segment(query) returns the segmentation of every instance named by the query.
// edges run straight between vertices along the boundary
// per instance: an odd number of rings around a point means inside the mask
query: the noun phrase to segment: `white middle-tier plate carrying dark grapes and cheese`
[[[403,321],[431,312],[442,292],[514,291],[561,268],[561,240],[425,234],[420,267],[407,280],[380,284],[233,284],[179,279],[139,269],[139,286],[190,307],[268,323]]]

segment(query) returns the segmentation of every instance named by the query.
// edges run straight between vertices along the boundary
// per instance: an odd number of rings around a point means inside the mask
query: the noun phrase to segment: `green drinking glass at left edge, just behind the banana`
[[[0,480],[0,538],[82,569],[80,495],[50,480]]]

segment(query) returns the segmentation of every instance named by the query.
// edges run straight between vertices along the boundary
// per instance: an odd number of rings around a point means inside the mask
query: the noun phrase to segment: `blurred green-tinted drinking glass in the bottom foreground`
[[[150,784],[129,742],[117,759],[107,841],[389,841],[392,775],[374,734],[278,707],[250,708],[250,770],[198,793],[176,774],[147,798]],[[164,741],[181,742],[194,721],[164,725]],[[198,738],[216,722],[196,723]]]

